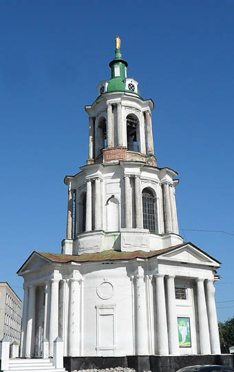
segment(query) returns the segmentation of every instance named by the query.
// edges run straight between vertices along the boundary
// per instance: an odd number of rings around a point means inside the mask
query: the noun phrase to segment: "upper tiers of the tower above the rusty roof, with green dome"
[[[111,79],[100,81],[89,116],[87,165],[68,186],[67,236],[63,254],[154,251],[180,244],[174,179],[159,168],[153,151],[153,101],[127,77],[120,38],[109,63]]]

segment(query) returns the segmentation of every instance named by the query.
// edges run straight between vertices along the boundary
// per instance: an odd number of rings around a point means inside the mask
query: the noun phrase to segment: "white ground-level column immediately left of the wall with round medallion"
[[[80,284],[78,278],[71,278],[70,311],[68,324],[68,350],[69,355],[79,355],[80,332],[79,332],[79,296]]]

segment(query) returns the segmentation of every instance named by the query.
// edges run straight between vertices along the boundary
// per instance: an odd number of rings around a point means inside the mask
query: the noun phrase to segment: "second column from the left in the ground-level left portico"
[[[34,356],[35,351],[35,315],[36,315],[36,287],[29,287],[28,322],[25,342],[25,358]]]

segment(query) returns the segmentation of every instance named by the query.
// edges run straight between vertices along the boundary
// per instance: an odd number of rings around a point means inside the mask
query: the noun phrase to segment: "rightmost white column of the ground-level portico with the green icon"
[[[208,313],[208,322],[210,329],[211,354],[220,354],[220,335],[217,327],[217,313],[215,305],[215,287],[213,279],[206,280],[206,304]]]

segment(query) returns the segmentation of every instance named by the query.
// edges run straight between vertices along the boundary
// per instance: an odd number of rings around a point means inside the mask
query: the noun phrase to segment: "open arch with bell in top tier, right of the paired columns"
[[[139,121],[134,114],[127,115],[127,149],[140,152]]]

